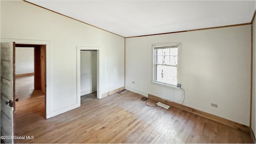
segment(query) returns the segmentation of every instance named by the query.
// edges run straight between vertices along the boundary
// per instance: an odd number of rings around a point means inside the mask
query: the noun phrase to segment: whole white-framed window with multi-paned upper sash
[[[177,86],[180,82],[180,43],[153,44],[153,82]]]

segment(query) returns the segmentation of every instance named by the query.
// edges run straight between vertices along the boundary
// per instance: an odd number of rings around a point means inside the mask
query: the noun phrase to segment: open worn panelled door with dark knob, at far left
[[[15,42],[1,42],[1,142],[13,143],[15,112]]]

